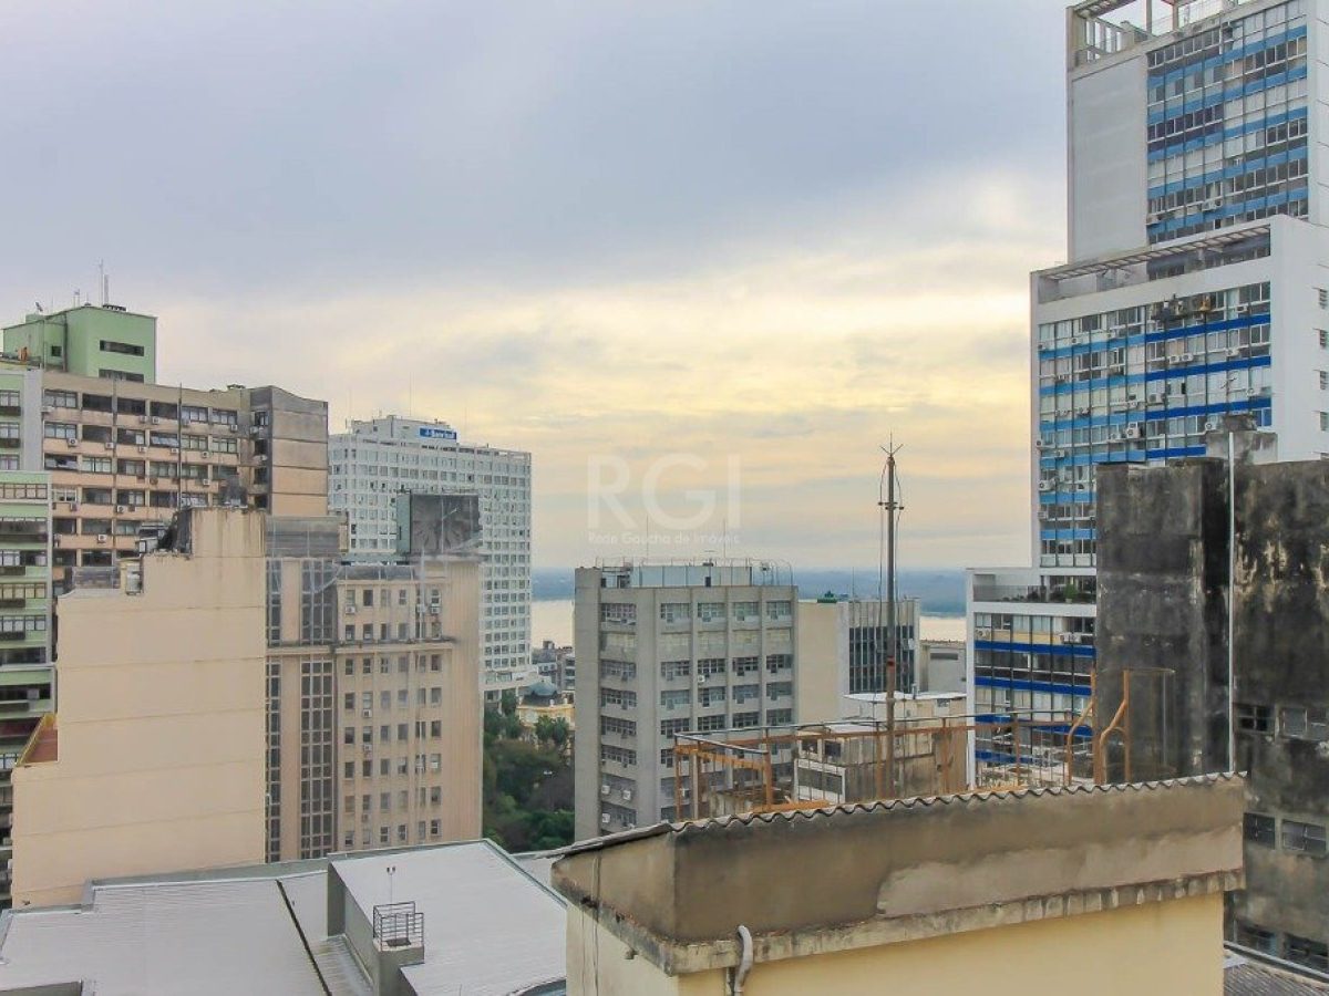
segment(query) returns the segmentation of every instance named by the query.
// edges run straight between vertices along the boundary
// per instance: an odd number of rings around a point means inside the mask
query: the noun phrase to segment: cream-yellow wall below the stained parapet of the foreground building
[[[747,996],[876,996],[981,991],[985,996],[1223,992],[1223,898],[1148,903],[905,944],[758,964]],[[888,981],[889,980],[889,981]],[[567,992],[712,996],[726,969],[667,976],[575,907],[567,911]]]

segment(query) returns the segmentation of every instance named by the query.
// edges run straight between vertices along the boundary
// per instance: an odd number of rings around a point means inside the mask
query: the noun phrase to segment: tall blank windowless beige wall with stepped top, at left
[[[60,599],[60,706],[13,770],[13,902],[263,858],[263,521],[198,510]]]

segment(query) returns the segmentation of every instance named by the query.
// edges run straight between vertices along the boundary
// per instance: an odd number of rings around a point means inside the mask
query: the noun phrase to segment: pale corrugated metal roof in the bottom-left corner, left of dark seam
[[[323,995],[271,879],[98,888],[90,908],[11,916],[0,956],[0,989]]]

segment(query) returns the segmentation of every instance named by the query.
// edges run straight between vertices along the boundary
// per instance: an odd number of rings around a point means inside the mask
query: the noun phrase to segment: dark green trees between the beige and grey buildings
[[[510,705],[509,705],[509,696]],[[484,833],[509,851],[561,847],[573,839],[573,773],[565,720],[542,717],[522,737],[517,697],[485,710]]]

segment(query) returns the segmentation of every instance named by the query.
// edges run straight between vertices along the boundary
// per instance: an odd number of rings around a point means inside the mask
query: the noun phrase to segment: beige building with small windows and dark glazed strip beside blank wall
[[[481,834],[480,566],[267,521],[268,861]]]

